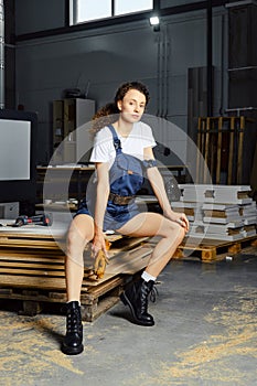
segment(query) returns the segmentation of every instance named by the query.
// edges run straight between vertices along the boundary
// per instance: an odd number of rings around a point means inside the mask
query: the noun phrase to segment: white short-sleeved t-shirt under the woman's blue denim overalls
[[[141,121],[133,124],[132,130],[127,138],[117,133],[122,152],[143,160],[143,149],[153,148],[157,142],[152,136],[152,129],[149,125]],[[94,148],[90,156],[90,162],[110,162],[114,161],[116,151],[114,138],[108,127],[100,129],[95,137]]]

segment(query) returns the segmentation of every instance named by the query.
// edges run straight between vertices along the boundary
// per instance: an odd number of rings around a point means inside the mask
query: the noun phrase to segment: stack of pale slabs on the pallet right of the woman
[[[189,236],[238,240],[256,235],[257,208],[248,185],[180,184],[175,212],[190,221]]]

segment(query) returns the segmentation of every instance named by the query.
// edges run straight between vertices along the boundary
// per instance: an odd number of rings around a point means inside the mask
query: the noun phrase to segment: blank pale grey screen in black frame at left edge
[[[0,181],[30,180],[31,122],[0,119]]]

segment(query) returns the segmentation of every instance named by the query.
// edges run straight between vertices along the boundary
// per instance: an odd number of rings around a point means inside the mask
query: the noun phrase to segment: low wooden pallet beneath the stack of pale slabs
[[[199,244],[199,239],[190,238],[183,242],[176,249],[173,259],[183,259],[188,257],[197,257],[203,262],[217,261],[226,255],[239,254],[249,245],[257,247],[257,236],[246,237],[236,242],[222,242],[214,239],[204,239]]]

